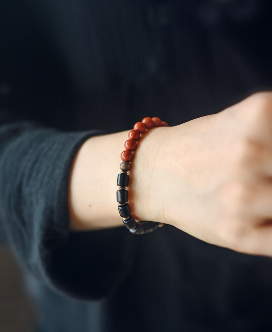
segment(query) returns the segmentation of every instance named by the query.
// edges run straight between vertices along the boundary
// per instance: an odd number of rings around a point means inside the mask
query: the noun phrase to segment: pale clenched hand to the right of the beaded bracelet
[[[272,256],[272,93],[157,128],[150,139],[154,153],[151,145],[141,171],[151,179],[144,194],[151,220],[239,252]],[[136,200],[142,194],[136,188]]]

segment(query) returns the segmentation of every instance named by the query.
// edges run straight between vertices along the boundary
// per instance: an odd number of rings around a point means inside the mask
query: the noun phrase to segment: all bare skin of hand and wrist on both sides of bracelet
[[[128,132],[93,137],[75,156],[69,186],[73,231],[123,225],[116,178]],[[137,220],[170,224],[238,252],[272,256],[272,93],[149,130],[132,165],[129,202]]]

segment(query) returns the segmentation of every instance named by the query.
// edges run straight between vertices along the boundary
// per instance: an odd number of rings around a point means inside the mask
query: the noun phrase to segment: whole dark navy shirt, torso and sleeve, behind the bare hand
[[[271,89],[271,9],[1,2],[0,224],[39,304],[37,331],[271,331],[270,258],[171,226],[71,233],[67,202],[73,158],[93,135],[144,116],[177,125]]]

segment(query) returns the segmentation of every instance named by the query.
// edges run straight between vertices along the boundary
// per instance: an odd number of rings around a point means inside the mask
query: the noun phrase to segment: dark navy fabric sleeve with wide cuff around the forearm
[[[107,295],[130,266],[131,243],[123,227],[69,230],[72,163],[80,146],[99,134],[62,132],[34,121],[0,126],[0,223],[7,242],[35,278],[86,299]]]

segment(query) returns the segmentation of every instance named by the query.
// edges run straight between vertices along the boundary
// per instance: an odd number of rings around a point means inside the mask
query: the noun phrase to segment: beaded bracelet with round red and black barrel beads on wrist
[[[162,227],[163,224],[152,222],[152,221],[140,221],[136,222],[135,218],[131,215],[131,209],[128,203],[129,195],[126,187],[129,185],[129,175],[128,171],[131,168],[130,161],[133,160],[134,154],[132,151],[135,151],[137,148],[137,143],[140,139],[140,134],[143,134],[146,130],[153,127],[166,127],[168,124],[165,121],[161,121],[157,117],[149,118],[145,117],[141,122],[136,122],[133,127],[133,130],[129,132],[129,140],[125,142],[125,150],[121,153],[122,162],[120,164],[121,173],[117,177],[117,202],[118,210],[120,216],[122,217],[124,225],[130,230],[133,234],[145,234],[153,232],[158,227]]]

